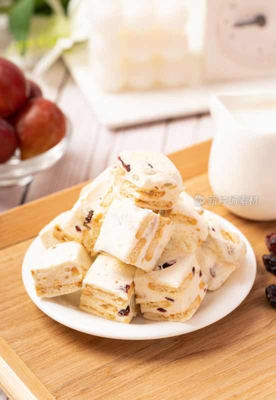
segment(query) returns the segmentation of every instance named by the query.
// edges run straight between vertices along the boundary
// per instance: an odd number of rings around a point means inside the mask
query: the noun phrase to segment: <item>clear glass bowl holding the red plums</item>
[[[65,136],[49,150],[27,159],[20,159],[20,150],[16,148],[15,153],[3,164],[0,164],[0,187],[24,186],[28,184],[35,173],[51,167],[65,153],[71,136],[71,124],[66,118]]]

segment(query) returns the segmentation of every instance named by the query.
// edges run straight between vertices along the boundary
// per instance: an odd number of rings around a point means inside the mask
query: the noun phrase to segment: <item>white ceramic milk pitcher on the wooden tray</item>
[[[244,218],[276,219],[276,90],[214,93],[209,107],[217,201]]]

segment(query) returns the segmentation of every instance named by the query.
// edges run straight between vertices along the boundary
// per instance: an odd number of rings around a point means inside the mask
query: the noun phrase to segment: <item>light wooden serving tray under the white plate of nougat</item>
[[[186,191],[211,194],[210,142],[173,153]],[[257,258],[255,283],[221,320],[158,340],[116,340],[75,331],[52,320],[28,297],[21,280],[24,253],[83,184],[0,214],[0,386],[10,400],[182,400],[276,398],[276,309],[264,289],[276,277],[264,268],[264,237],[274,222],[252,222],[209,206],[249,239]],[[223,193],[222,193],[223,194]],[[223,286],[222,286],[223,287]]]

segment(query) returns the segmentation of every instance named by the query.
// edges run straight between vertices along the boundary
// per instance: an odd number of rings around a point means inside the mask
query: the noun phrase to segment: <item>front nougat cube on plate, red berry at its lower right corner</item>
[[[130,322],[138,312],[133,278],[135,266],[99,254],[82,281],[79,308],[93,315]]]

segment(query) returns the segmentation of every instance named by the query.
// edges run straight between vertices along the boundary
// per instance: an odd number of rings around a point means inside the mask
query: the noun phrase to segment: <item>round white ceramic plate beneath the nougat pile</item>
[[[157,339],[192,332],[223,318],[235,309],[250,291],[256,274],[256,258],[246,237],[230,222],[216,215],[229,229],[240,234],[247,253],[242,265],[215,291],[207,291],[198,310],[185,322],[149,321],[137,315],[130,323],[121,323],[88,314],[77,305],[80,290],[63,296],[37,297],[30,269],[37,257],[45,250],[39,237],[36,237],[26,251],[22,264],[22,278],[25,289],[32,301],[45,314],[73,329],[96,336],[115,339]]]

